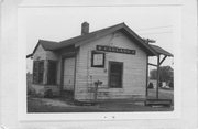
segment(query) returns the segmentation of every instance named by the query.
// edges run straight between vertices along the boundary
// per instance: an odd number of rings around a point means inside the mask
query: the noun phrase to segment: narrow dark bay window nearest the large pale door
[[[47,84],[56,85],[56,74],[57,74],[57,62],[48,61],[48,73],[47,73]]]

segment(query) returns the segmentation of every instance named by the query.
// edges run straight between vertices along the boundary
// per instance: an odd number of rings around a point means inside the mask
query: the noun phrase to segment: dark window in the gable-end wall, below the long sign
[[[109,87],[122,88],[123,63],[109,62]]]

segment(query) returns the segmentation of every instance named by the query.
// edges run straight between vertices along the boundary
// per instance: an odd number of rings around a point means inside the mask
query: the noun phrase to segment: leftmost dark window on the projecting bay
[[[43,84],[44,61],[34,61],[33,64],[33,83]]]

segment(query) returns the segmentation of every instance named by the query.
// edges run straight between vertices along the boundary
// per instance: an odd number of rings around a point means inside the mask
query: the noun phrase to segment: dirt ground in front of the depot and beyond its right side
[[[148,98],[155,98],[156,89],[148,90]],[[160,98],[173,99],[173,90],[160,89]],[[150,107],[143,101],[107,101],[94,106],[78,106],[63,98],[28,97],[28,112],[112,112],[112,111],[172,111],[174,107]]]

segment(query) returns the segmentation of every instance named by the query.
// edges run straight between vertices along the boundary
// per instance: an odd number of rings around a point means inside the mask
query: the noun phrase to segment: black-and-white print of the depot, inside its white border
[[[23,11],[28,112],[174,110],[174,8]]]

